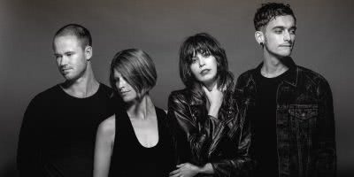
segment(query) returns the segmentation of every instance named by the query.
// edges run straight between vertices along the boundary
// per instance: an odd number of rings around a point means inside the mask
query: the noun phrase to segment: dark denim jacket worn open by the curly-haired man
[[[319,73],[296,65],[291,58],[286,59],[289,74],[276,92],[279,176],[335,176],[335,119],[331,89]],[[242,73],[236,83],[235,99],[244,106],[247,116],[255,109],[258,91],[255,76],[261,67],[262,64]]]

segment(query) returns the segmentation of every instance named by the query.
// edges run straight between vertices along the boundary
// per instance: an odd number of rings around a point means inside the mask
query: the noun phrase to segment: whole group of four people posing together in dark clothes
[[[331,89],[290,58],[294,12],[263,4],[254,25],[263,62],[236,84],[212,35],[182,43],[185,89],[171,93],[167,114],[149,96],[158,76],[147,53],[119,51],[110,89],[92,72],[89,30],[60,28],[53,50],[65,81],[27,107],[20,176],[335,176]]]

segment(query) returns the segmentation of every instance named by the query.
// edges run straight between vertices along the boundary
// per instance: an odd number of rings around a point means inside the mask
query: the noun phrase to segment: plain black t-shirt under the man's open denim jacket
[[[255,158],[258,162],[257,176],[278,176],[278,152],[276,136],[276,94],[284,76],[266,78],[260,71],[256,75],[257,97],[254,128]]]

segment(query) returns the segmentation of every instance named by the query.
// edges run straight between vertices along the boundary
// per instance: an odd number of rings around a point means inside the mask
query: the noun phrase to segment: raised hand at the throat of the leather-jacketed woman
[[[224,93],[218,89],[217,84],[212,87],[212,90],[207,89],[205,86],[202,86],[202,89],[210,103],[208,114],[218,118],[219,109],[224,100]]]

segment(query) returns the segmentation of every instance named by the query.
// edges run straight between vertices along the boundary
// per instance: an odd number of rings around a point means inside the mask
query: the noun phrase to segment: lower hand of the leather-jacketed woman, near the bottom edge
[[[198,166],[190,163],[177,165],[177,168],[169,174],[170,177],[193,177],[200,171]]]

